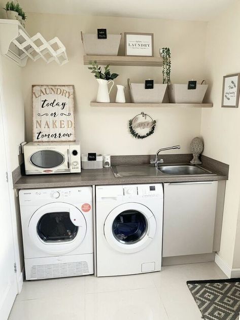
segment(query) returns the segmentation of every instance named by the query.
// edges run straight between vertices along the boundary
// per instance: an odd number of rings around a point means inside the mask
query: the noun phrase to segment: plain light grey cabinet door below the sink
[[[164,184],[163,257],[213,251],[218,182]]]

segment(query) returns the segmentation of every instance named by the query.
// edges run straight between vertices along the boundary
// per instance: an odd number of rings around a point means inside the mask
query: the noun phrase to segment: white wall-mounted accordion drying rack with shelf
[[[66,48],[57,37],[46,41],[39,32],[30,37],[17,20],[0,19],[0,51],[20,66],[25,66],[28,58],[59,65],[68,62]]]

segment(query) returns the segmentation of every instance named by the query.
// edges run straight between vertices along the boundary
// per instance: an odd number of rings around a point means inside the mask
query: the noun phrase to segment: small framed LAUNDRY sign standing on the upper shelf
[[[132,46],[130,46],[130,44]],[[125,56],[153,57],[154,37],[153,33],[124,32]]]

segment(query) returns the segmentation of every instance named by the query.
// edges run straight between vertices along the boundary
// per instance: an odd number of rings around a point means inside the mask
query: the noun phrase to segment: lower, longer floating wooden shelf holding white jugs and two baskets
[[[101,103],[90,102],[90,106],[108,106],[123,108],[212,108],[213,103]]]

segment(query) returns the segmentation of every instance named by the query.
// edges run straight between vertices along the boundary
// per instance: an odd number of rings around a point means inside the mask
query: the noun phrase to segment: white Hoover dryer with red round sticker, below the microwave
[[[27,280],[93,273],[92,188],[20,190]]]

